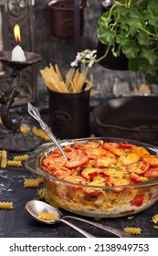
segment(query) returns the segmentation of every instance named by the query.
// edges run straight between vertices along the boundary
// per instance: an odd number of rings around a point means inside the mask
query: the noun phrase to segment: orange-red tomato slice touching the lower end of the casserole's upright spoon
[[[75,158],[70,159],[66,162],[66,167],[69,169],[83,167],[89,163],[89,157],[84,153],[83,150],[78,149],[78,155]]]

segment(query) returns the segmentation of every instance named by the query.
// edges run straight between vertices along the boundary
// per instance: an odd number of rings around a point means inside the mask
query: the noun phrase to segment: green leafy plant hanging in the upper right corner
[[[157,0],[111,0],[111,9],[98,21],[98,37],[109,51],[121,52],[129,59],[129,69],[140,70],[149,83],[158,83],[158,7]],[[96,56],[95,56],[96,57]],[[81,60],[81,59],[80,59]],[[85,63],[90,59],[85,58]]]

